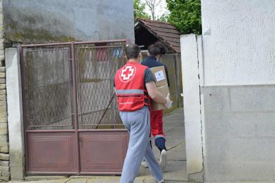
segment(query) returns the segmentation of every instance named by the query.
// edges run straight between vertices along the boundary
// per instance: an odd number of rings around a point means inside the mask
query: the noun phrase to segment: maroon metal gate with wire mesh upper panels
[[[126,40],[20,45],[27,174],[120,174],[113,91]]]

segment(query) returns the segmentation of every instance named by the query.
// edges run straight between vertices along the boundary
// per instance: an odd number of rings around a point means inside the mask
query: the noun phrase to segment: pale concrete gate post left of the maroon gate
[[[12,180],[23,180],[24,133],[20,56],[17,48],[5,49],[8,131],[10,142],[10,173]]]

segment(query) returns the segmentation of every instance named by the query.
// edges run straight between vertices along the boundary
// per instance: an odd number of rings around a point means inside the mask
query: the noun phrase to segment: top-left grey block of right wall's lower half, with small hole
[[[203,87],[205,111],[230,111],[227,87]]]

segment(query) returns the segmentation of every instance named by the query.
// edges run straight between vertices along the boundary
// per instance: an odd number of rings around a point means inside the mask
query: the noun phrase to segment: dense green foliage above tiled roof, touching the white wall
[[[201,34],[201,0],[166,0],[168,21],[181,34]]]

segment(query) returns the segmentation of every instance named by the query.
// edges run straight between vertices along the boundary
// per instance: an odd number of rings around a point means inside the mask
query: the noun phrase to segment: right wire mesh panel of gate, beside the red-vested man
[[[115,101],[113,77],[124,65],[122,43],[78,45],[78,127],[115,128],[122,124]]]

